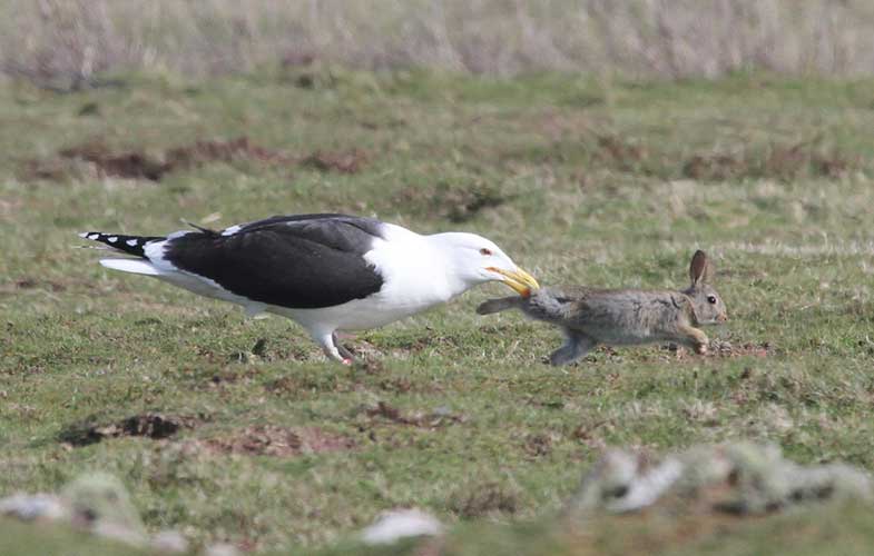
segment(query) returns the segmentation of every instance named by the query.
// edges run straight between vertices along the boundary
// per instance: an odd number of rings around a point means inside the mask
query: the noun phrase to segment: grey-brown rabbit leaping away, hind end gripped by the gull
[[[557,366],[576,361],[598,344],[676,341],[705,355],[707,336],[697,327],[728,319],[721,297],[709,285],[713,274],[707,255],[698,250],[689,265],[691,285],[682,291],[544,287],[528,297],[490,299],[477,312],[520,309],[561,327],[567,340],[549,358]]]

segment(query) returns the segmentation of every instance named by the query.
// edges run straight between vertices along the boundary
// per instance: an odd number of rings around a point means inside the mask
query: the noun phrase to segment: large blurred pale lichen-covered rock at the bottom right
[[[832,499],[874,502],[867,473],[844,464],[802,466],[773,444],[695,446],[650,461],[612,449],[588,471],[567,506],[570,516],[649,506],[671,515],[700,512],[763,515]]]

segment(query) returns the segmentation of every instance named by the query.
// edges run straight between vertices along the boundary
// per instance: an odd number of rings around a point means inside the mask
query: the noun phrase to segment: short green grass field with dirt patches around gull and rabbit
[[[0,495],[102,469],[149,529],[265,550],[347,543],[399,506],[463,522],[451,554],[874,540],[858,507],[664,538],[543,517],[611,445],[767,439],[874,468],[874,81],[122,75],[66,95],[8,83],[0,128]],[[509,292],[494,285],[361,335],[369,363],[350,369],[288,320],[72,248],[82,230],[305,211],[477,231],[541,284],[685,286],[703,248],[723,349],[552,368],[557,330],[474,314]],[[144,430],[165,438],[129,434]],[[39,552],[26,527],[0,530],[21,538],[7,550]]]

